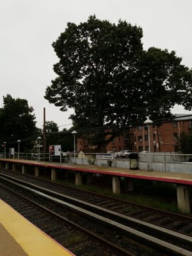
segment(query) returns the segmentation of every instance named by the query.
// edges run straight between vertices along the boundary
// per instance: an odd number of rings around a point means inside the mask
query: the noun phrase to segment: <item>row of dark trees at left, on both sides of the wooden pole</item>
[[[35,152],[39,136],[43,140],[42,129],[36,127],[33,107],[28,105],[26,99],[13,99],[11,95],[3,97],[3,108],[0,108],[0,143],[6,142],[6,147],[15,148],[17,152],[18,140],[20,141],[20,152]],[[58,125],[52,121],[45,122],[46,129],[46,152],[49,145],[61,145],[63,151],[73,150],[72,136],[68,136],[67,129],[59,133]],[[58,132],[58,133],[51,133]],[[66,132],[66,133],[65,133]],[[4,148],[1,147],[1,152]]]

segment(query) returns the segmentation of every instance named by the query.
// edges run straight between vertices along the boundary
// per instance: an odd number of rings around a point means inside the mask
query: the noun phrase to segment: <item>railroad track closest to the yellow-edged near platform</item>
[[[131,252],[118,248],[115,244],[105,241],[74,222],[56,214],[56,212],[47,209],[47,207],[15,193],[15,191],[6,188],[2,184],[0,184],[0,194],[4,202],[11,205],[13,209],[36,227],[43,230],[75,255],[133,256]]]

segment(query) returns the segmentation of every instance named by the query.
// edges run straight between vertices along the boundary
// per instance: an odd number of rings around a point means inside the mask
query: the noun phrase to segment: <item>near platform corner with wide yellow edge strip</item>
[[[0,255],[71,256],[60,244],[0,200]]]

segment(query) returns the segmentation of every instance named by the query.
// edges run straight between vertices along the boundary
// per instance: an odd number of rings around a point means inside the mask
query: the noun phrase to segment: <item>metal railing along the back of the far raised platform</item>
[[[79,153],[74,157],[74,153],[68,156],[50,156],[49,154],[17,153],[10,155],[0,154],[1,158],[26,159],[32,161],[48,161],[72,164],[95,164],[99,166],[111,166],[117,168],[129,168],[130,159],[115,158],[115,154],[107,153]],[[163,172],[189,172],[192,173],[192,154],[175,154],[168,152],[151,153],[152,170]],[[149,154],[139,154],[139,168],[149,170]]]

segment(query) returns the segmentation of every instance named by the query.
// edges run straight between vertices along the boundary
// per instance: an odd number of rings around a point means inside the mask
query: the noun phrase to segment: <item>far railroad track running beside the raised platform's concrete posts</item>
[[[124,200],[118,200],[109,196],[100,195],[98,193],[91,193],[82,189],[58,184],[49,180],[42,180],[29,175],[22,175],[20,173],[9,172],[1,170],[4,175],[10,175],[20,180],[36,184],[42,188],[47,188],[52,191],[56,191],[63,195],[79,198],[85,202],[102,206],[106,209],[111,209],[128,216],[137,218],[138,220],[148,221],[161,227],[170,228],[177,232],[182,232],[188,236],[192,236],[192,218],[183,216],[180,214],[173,214],[171,212],[165,212],[151,207],[145,207],[143,205],[130,203]]]

